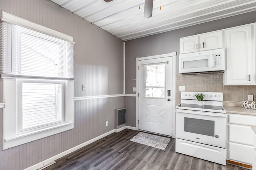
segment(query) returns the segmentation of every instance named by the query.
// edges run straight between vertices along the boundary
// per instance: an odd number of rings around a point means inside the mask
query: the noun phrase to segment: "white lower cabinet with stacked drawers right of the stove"
[[[256,125],[256,121],[252,120],[255,120],[255,116],[228,114],[228,160],[248,165],[254,164],[254,132],[250,126]]]

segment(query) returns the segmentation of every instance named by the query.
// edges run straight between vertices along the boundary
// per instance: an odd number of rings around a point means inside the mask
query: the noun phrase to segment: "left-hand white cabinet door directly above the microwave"
[[[192,53],[199,51],[199,36],[180,38],[180,53]]]

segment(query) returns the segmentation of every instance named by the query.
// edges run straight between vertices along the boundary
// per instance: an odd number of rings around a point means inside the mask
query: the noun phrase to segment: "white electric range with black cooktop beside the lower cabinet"
[[[196,93],[203,93],[199,106]],[[181,92],[176,106],[176,152],[226,165],[226,110],[223,93]]]

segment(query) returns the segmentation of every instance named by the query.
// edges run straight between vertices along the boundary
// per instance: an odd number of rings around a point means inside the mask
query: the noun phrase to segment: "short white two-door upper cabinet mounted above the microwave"
[[[180,38],[180,53],[192,53],[223,47],[223,31]]]

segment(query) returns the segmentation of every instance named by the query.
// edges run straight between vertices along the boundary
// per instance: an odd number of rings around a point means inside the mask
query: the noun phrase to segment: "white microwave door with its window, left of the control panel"
[[[180,73],[214,71],[214,51],[180,54]]]

